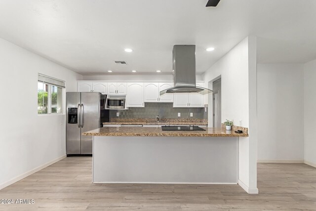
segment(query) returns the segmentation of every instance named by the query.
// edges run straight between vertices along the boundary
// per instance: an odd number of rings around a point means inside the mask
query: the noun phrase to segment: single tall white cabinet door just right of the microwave
[[[126,107],[144,107],[144,83],[127,83]]]

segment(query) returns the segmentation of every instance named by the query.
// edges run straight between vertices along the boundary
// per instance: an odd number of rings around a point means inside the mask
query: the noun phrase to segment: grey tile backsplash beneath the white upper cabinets
[[[173,108],[172,106],[173,103],[145,103],[144,108],[110,110],[110,119],[156,118],[157,115],[160,119],[207,119],[207,111],[205,112],[204,108]],[[119,117],[117,117],[117,112]],[[181,117],[178,117],[178,113],[181,113]],[[193,113],[193,117],[190,117],[190,113]]]

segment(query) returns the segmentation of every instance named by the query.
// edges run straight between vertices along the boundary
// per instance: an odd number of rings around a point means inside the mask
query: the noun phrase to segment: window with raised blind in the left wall
[[[38,114],[61,114],[65,82],[39,74]]]

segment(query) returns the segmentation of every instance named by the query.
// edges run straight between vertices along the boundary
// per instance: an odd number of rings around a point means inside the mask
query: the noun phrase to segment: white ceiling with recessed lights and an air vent
[[[249,35],[258,37],[258,63],[316,58],[316,0],[206,2],[1,0],[0,38],[82,75],[171,74],[174,44],[197,45],[202,74]]]

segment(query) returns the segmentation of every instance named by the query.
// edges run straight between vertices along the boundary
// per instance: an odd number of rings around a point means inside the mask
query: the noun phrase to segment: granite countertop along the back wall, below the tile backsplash
[[[160,119],[157,122],[153,118],[135,118],[135,119],[119,119],[113,118],[111,122],[103,123],[103,125],[199,125],[207,126],[207,120],[201,119]]]

